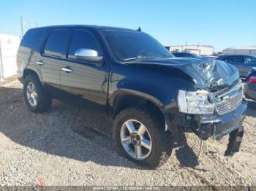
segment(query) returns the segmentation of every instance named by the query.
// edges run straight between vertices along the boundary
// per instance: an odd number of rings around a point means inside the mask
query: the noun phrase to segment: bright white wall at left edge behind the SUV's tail
[[[0,34],[0,81],[16,74],[19,44],[19,36]]]

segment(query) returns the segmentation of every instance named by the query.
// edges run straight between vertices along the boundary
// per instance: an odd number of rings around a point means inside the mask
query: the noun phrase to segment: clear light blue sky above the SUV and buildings
[[[163,45],[256,46],[256,0],[1,0],[0,33],[89,24],[137,29]]]

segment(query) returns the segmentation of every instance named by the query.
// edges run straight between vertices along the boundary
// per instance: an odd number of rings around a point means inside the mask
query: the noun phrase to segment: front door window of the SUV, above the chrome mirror
[[[75,51],[80,48],[96,50],[99,55],[102,55],[102,51],[99,47],[97,39],[95,39],[91,32],[86,30],[76,30],[72,35],[72,40],[69,45],[68,58],[75,59]]]

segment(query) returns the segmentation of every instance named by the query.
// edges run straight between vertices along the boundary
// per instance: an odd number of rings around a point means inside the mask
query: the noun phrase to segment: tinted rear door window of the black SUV
[[[45,55],[53,55],[61,57],[62,52],[69,42],[69,31],[65,29],[56,29],[48,36],[44,53]]]

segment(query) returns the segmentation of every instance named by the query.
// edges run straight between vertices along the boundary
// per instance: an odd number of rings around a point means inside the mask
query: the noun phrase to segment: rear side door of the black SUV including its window
[[[36,58],[41,80],[46,88],[59,88],[61,85],[60,59],[67,49],[68,42],[69,31],[67,29],[54,29],[48,34],[41,54]]]

